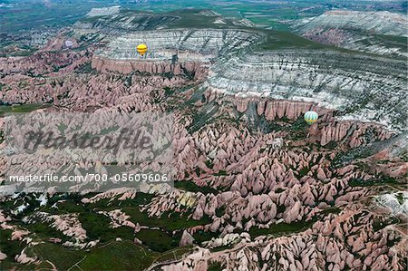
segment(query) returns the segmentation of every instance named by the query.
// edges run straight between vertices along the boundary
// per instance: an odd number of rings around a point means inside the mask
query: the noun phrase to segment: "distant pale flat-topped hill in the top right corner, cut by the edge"
[[[308,39],[360,52],[407,57],[408,17],[390,12],[335,10],[292,23]]]

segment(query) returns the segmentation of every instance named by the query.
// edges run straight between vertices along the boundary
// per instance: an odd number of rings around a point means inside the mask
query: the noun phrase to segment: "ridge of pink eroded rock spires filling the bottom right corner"
[[[346,208],[338,217],[316,222],[300,234],[242,239],[233,249],[192,253],[162,268],[194,270],[207,261],[231,270],[403,270],[406,240],[399,241],[401,234],[395,228],[374,230],[374,219],[364,211]]]

